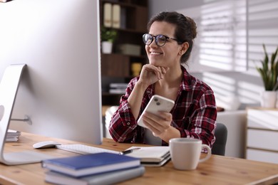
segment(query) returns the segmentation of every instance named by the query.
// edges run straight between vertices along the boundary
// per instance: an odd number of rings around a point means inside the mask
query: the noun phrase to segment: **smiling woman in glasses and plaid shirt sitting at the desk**
[[[140,76],[130,80],[113,114],[109,132],[115,141],[164,146],[171,138],[194,137],[212,147],[215,96],[181,65],[187,64],[196,34],[195,22],[177,12],[161,12],[150,19],[143,36],[149,63],[143,65]],[[174,100],[175,106],[159,116],[146,112],[143,122],[149,129],[145,129],[137,120],[153,95]]]

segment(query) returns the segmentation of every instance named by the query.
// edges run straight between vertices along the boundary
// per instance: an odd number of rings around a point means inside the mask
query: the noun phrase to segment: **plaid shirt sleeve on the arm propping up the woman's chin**
[[[125,90],[125,95],[120,98],[118,110],[113,114],[109,132],[115,142],[135,142],[138,133],[141,133],[141,127],[138,127],[135,117],[128,104],[128,97],[132,92],[137,79],[133,79]]]

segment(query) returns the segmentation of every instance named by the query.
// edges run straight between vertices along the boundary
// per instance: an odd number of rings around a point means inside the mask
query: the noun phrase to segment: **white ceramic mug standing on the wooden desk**
[[[210,159],[212,154],[210,147],[207,144],[202,144],[200,139],[173,138],[170,139],[169,145],[175,169],[196,169],[199,162],[205,162],[207,159]],[[207,149],[207,155],[200,159],[202,147]]]

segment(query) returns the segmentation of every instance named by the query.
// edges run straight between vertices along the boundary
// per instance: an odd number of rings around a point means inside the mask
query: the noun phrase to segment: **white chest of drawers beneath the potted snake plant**
[[[246,159],[278,164],[277,109],[248,108],[246,127]]]

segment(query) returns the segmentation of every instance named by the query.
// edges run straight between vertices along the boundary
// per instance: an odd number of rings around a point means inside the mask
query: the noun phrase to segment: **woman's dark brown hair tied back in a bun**
[[[165,21],[176,26],[175,38],[178,40],[177,43],[182,44],[187,42],[189,44],[187,51],[180,59],[180,63],[186,63],[192,51],[193,40],[197,36],[197,26],[195,21],[190,17],[177,13],[176,11],[163,11],[150,18],[147,26],[148,32],[150,31],[150,26],[152,26],[155,21]]]

